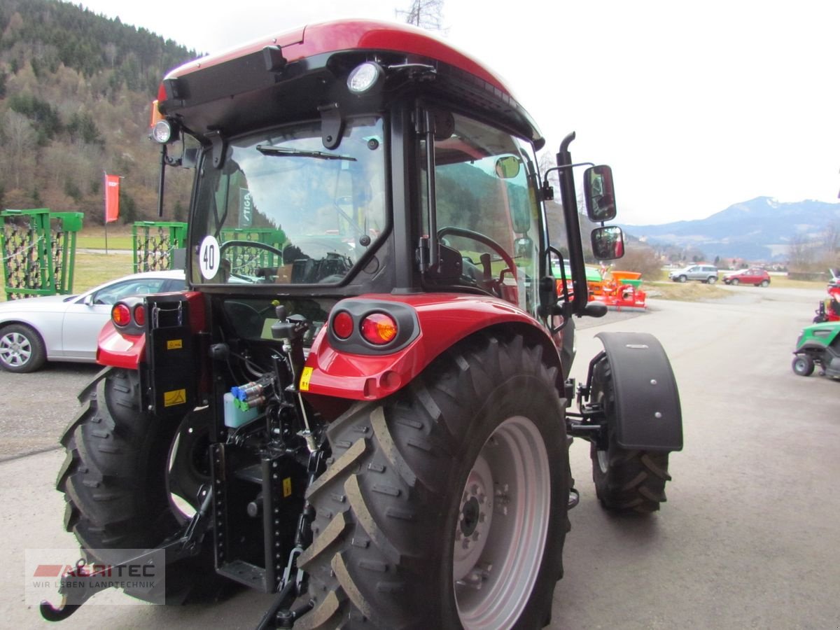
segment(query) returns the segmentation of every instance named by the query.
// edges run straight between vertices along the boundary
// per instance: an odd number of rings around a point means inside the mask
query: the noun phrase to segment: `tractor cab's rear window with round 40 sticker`
[[[192,229],[196,283],[338,284],[386,229],[381,118],[346,121],[325,150],[321,123],[231,142],[205,165]]]

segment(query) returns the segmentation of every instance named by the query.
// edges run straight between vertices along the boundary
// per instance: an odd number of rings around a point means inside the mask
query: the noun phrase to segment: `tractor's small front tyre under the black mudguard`
[[[668,453],[622,449],[617,443],[615,389],[608,358],[595,367],[591,400],[604,407],[607,423],[607,448],[593,443],[592,480],[601,505],[612,512],[656,512],[666,501]]]

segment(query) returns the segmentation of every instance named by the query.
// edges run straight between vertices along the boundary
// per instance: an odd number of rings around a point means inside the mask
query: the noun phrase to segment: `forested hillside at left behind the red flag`
[[[0,0],[0,209],[103,219],[103,174],[123,176],[120,223],[156,217],[160,152],[147,138],[165,71],[197,53],[57,0]],[[167,173],[167,219],[186,215]]]

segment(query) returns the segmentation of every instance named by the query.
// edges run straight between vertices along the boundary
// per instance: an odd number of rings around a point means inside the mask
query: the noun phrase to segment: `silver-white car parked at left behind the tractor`
[[[0,302],[0,368],[33,372],[46,360],[97,360],[97,339],[114,302],[143,293],[184,291],[183,270],[145,271],[76,296]]]

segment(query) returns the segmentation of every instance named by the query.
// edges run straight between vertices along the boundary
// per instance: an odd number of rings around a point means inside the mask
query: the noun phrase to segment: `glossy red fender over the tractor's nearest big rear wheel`
[[[370,300],[377,310],[389,302],[404,304],[416,313],[419,330],[410,343],[390,353],[349,352],[333,344],[322,330],[312,344],[303,369],[301,391],[353,400],[377,400],[410,383],[439,354],[481,328],[497,324],[526,324],[538,329],[551,344],[547,332],[522,309],[508,302],[483,296],[432,293],[421,296],[366,295],[354,303]],[[333,307],[342,309],[344,302]],[[327,327],[325,327],[327,328]]]

